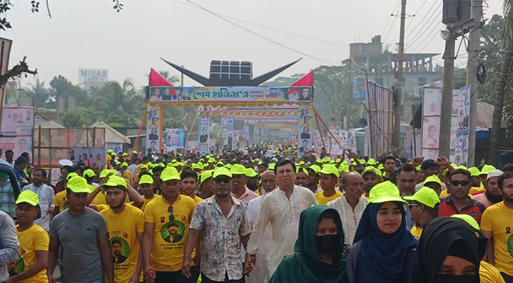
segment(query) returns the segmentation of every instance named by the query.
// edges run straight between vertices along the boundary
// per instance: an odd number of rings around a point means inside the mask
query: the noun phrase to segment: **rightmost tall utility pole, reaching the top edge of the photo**
[[[468,114],[468,167],[475,163],[475,119],[478,115],[478,78],[475,70],[479,64],[479,50],[481,40],[481,13],[483,0],[472,0],[471,18],[473,25],[468,35],[468,61],[467,61],[467,86],[471,88],[471,107]]]

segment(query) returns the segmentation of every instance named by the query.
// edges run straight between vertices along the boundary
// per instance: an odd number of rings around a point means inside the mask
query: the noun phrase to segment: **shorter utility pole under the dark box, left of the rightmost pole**
[[[448,27],[449,30],[451,28]],[[438,156],[449,158],[451,153],[452,90],[454,88],[454,47],[456,34],[450,32],[445,40],[444,78],[442,81],[442,107],[440,108],[440,134]]]

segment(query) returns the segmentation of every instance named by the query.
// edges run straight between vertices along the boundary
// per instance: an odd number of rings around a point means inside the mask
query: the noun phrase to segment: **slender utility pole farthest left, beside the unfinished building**
[[[393,120],[393,134],[392,145],[395,148],[399,147],[400,137],[400,114],[401,106],[403,105],[403,62],[404,62],[404,23],[406,19],[406,0],[401,0],[400,6],[400,33],[399,33],[399,48],[397,59],[397,86],[396,86],[396,104],[394,105],[394,120]]]

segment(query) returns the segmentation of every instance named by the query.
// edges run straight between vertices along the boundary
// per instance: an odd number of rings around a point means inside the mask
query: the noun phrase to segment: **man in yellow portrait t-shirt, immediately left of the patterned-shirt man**
[[[161,197],[144,209],[144,279],[146,282],[185,282],[183,248],[195,202],[180,195],[180,175],[174,167],[160,175]]]

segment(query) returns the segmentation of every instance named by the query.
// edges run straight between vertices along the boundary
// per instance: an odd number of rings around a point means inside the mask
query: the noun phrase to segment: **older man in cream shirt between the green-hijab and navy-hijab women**
[[[344,229],[344,243],[347,246],[352,246],[358,223],[367,207],[367,197],[362,197],[364,179],[359,173],[345,173],[341,185],[344,195],[328,202],[328,207],[336,209],[340,214]]]

